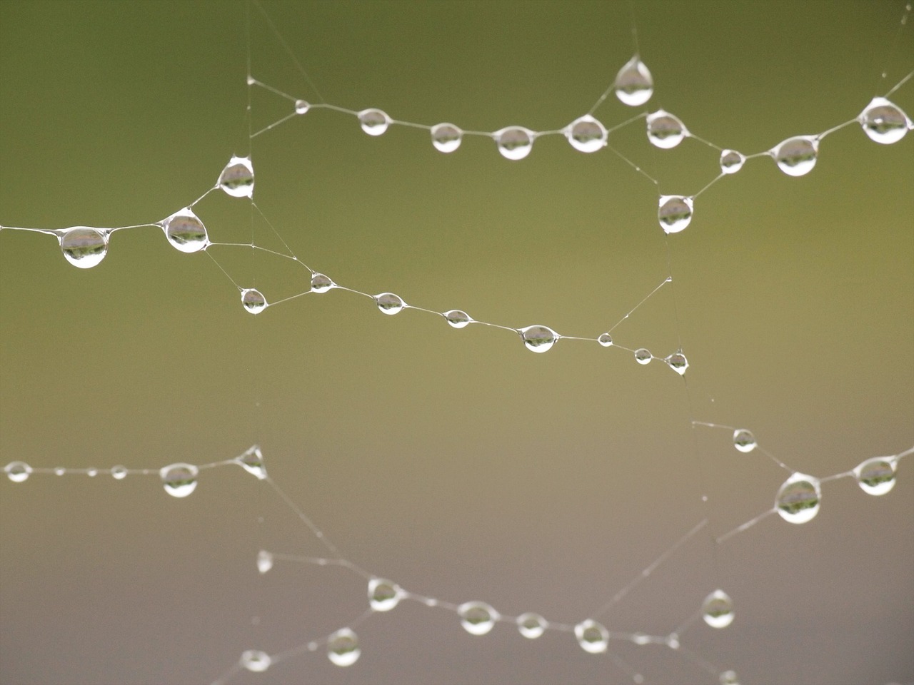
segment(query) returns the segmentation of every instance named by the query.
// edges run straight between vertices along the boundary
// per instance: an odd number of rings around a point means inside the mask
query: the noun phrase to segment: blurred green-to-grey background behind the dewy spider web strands
[[[0,223],[62,228],[158,221],[249,152],[252,74],[295,97],[466,130],[556,129],[588,111],[632,57],[632,15],[654,74],[640,110],[610,96],[607,126],[673,112],[696,135],[756,153],[853,119],[912,67],[902,2],[0,4]],[[908,26],[908,29],[910,26]],[[885,70],[887,77],[880,79]],[[290,110],[251,90],[252,126]],[[891,100],[914,112],[914,84]],[[665,635],[722,587],[736,620],[682,644],[743,683],[914,681],[914,462],[870,497],[824,483],[802,526],[770,517],[789,475],[726,430],[754,431],[825,477],[914,442],[911,136],[852,125],[811,174],[752,160],[665,237],[658,190],[717,174],[694,140],[659,150],[643,121],[609,151],[560,136],[509,162],[484,138],[452,154],[427,132],[378,138],[313,110],[254,139],[255,199],[294,254],[336,282],[436,311],[595,337],[613,331],[665,364],[595,342],[527,352],[510,332],[382,316],[342,291],[257,317],[207,255],[156,228],[115,233],[74,269],[53,237],[0,233],[0,463],[155,468],[259,443],[272,479],[345,557],[420,594],[503,614],[590,617],[697,522],[707,528],[601,617]],[[218,242],[281,248],[246,200],[196,207]],[[211,248],[268,300],[304,269]],[[674,298],[675,296],[675,298]],[[686,385],[687,384],[687,385]],[[707,495],[707,503],[702,496]],[[154,477],[0,482],[0,681],[200,683],[244,649],[280,652],[345,627],[365,584],[320,554],[264,483],[207,470],[194,494]],[[907,531],[907,532],[906,532]],[[317,653],[238,683],[625,683],[565,633],[405,603],[356,628],[362,656]],[[613,641],[650,683],[715,683],[695,659]]]

